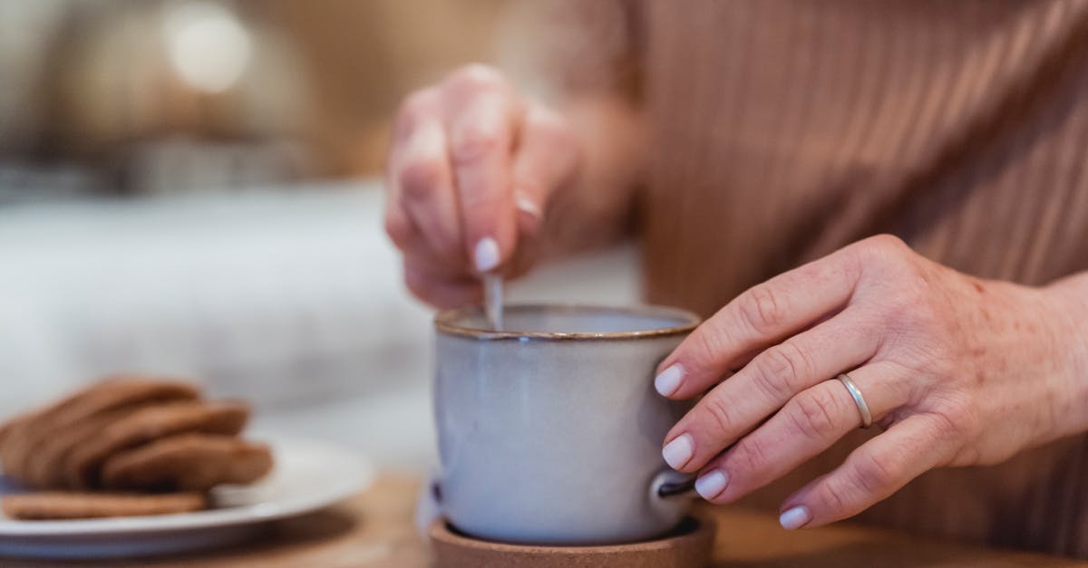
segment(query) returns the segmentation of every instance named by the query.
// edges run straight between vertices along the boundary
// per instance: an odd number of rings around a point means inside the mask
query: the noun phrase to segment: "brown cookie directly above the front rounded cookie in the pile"
[[[185,432],[234,435],[249,418],[249,408],[230,400],[172,403],[140,408],[107,425],[74,448],[64,462],[69,486],[97,486],[99,467],[118,452]]]

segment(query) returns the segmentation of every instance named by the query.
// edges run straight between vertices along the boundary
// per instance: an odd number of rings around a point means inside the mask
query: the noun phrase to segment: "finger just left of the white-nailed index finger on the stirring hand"
[[[436,113],[418,121],[393,150],[395,192],[435,256],[450,264],[466,264],[468,257],[446,147],[446,135]]]

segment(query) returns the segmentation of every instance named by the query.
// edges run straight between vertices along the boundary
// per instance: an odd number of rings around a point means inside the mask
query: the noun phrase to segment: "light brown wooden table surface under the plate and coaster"
[[[369,491],[326,510],[279,521],[250,544],[161,559],[79,563],[78,566],[235,567],[396,567],[432,565],[426,543],[412,521],[419,482],[385,477]],[[1088,563],[1034,554],[960,546],[901,533],[839,523],[787,532],[774,515],[730,507],[707,507],[718,522],[715,567],[780,566],[1084,566]],[[0,558],[11,568],[51,566]]]

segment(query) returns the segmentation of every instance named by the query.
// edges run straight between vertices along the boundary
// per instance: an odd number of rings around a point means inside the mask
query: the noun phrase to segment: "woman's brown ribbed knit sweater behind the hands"
[[[627,89],[648,120],[648,300],[710,314],[876,233],[984,277],[1088,269],[1088,1],[568,8],[541,21],[551,72]],[[777,507],[866,435],[746,502]],[[932,471],[860,519],[1088,557],[1088,436]]]

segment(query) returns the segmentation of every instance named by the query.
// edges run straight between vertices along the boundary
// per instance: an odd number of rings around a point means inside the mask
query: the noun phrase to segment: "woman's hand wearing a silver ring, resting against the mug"
[[[663,455],[698,472],[703,497],[732,502],[858,428],[832,380],[845,372],[885,432],[790,496],[783,527],[850,517],[931,468],[1002,461],[1086,428],[1071,305],[862,240],[749,289],[662,363],[663,395],[709,390]]]

